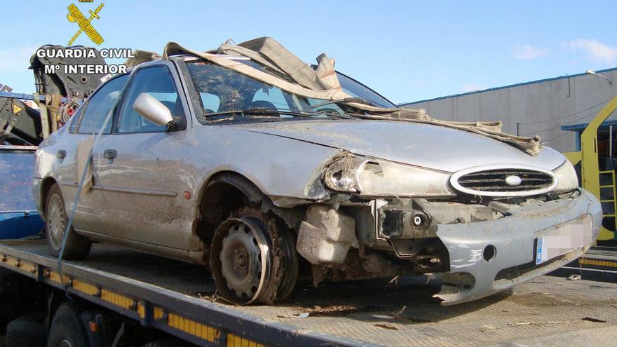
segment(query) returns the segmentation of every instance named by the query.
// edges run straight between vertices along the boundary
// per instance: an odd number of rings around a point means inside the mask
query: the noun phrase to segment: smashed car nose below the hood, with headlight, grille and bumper
[[[363,270],[430,274],[442,283],[437,297],[444,305],[487,297],[581,257],[602,220],[597,199],[576,187],[567,161],[555,171],[491,164],[442,172],[349,158],[333,161],[324,174],[326,186],[350,193],[348,200],[337,216],[309,208],[298,251],[313,264],[349,268],[336,252],[355,241],[344,236],[351,235],[349,222],[328,226],[318,243],[309,235],[325,221],[354,216]]]

